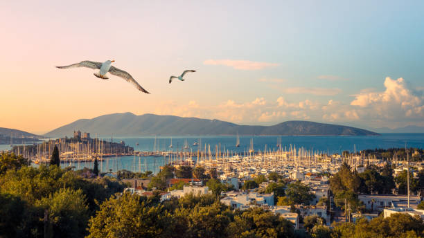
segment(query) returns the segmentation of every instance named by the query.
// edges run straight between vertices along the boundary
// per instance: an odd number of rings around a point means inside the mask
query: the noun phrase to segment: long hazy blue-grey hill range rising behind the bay
[[[376,136],[375,132],[307,121],[288,121],[273,126],[237,125],[222,120],[181,118],[133,113],[114,113],[92,119],[80,119],[44,136],[73,136],[73,131],[87,131],[98,136],[148,136],[148,135],[343,135]]]

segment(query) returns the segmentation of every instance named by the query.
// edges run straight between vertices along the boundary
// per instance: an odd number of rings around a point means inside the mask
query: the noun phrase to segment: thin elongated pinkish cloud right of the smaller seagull
[[[279,64],[268,63],[268,62],[254,62],[249,60],[205,60],[205,65],[223,65],[229,66],[234,69],[240,69],[245,71],[255,71],[263,68],[279,66]]]

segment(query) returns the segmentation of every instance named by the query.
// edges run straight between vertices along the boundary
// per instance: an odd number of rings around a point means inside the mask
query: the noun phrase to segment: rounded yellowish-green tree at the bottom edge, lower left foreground
[[[50,234],[54,237],[82,237],[89,219],[82,190],[60,189],[36,203],[48,211]]]

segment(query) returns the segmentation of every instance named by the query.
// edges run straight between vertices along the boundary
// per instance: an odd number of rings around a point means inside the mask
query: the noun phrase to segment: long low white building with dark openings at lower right
[[[406,207],[408,200],[406,195],[393,195],[393,194],[360,194],[357,197],[365,208],[371,211],[381,211],[384,208],[402,208]],[[421,202],[420,196],[409,195],[409,205],[416,208]]]

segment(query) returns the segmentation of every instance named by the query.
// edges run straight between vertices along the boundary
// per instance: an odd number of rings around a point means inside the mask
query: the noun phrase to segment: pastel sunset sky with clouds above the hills
[[[424,126],[424,1],[0,1],[0,127],[156,113]],[[115,60],[150,95],[89,68]],[[186,69],[186,81],[168,84]]]

